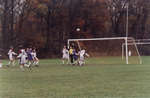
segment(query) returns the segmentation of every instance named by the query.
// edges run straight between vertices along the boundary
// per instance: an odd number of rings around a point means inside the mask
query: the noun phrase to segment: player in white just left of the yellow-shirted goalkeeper
[[[63,64],[65,64],[65,61],[67,62],[67,64],[69,63],[69,51],[67,49],[66,46],[64,46],[63,50],[62,50],[62,62]]]

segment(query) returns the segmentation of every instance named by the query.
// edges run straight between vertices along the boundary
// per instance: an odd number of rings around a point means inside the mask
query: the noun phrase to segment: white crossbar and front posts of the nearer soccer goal
[[[131,38],[129,38],[129,37],[110,37],[110,38],[68,39],[68,48],[70,47],[72,42],[76,42],[78,47],[81,49],[82,47],[80,46],[79,42],[80,43],[86,42],[86,41],[111,41],[112,42],[113,40],[123,40],[123,43],[125,43],[126,64],[129,64],[129,61],[128,61],[128,39],[131,39]],[[120,45],[119,47],[122,47],[122,46]]]

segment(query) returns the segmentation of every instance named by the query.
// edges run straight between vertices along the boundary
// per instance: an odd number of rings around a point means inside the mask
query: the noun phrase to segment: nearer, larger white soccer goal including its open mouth
[[[129,45],[130,37],[112,37],[112,38],[89,38],[89,39],[68,39],[68,48],[73,46],[76,50],[85,49],[90,55],[87,62],[97,64],[129,64]],[[138,52],[135,43],[134,50]],[[124,46],[123,49],[122,47]],[[125,59],[122,59],[122,50]],[[138,53],[137,53],[138,54]],[[137,56],[138,57],[138,56]],[[138,60],[138,59],[137,59]]]

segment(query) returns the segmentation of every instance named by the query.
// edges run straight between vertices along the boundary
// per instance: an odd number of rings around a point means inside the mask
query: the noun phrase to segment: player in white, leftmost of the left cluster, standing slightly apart
[[[8,63],[8,66],[9,65],[15,65],[15,55],[17,55],[17,53],[15,53],[14,51],[13,51],[13,48],[11,48],[10,50],[9,50],[9,52],[8,52],[8,56],[9,56],[9,63]]]

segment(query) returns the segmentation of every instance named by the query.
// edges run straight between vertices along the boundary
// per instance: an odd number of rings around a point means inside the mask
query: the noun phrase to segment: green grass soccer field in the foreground
[[[150,98],[149,60],[126,65],[114,64],[115,58],[109,58],[109,64],[89,59],[83,67],[41,60],[40,67],[24,72],[19,66],[4,66],[0,98]]]

